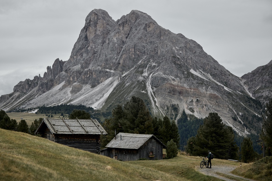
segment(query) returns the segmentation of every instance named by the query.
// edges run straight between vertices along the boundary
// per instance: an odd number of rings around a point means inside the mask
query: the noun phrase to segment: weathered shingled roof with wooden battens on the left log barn
[[[46,124],[50,132],[54,134],[107,134],[96,119],[43,118],[35,134],[39,132],[43,124]]]

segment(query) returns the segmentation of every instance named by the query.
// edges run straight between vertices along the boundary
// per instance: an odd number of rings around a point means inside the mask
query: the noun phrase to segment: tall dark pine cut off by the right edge
[[[264,141],[266,156],[272,156],[272,99],[266,104],[265,114],[260,137]]]

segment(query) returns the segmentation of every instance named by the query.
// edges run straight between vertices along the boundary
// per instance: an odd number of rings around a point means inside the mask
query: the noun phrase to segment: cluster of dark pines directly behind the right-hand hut
[[[112,111],[112,117],[105,119],[102,126],[108,133],[101,136],[101,147],[105,147],[119,132],[134,134],[153,134],[165,145],[173,140],[179,147],[179,133],[174,120],[167,116],[163,119],[152,117],[144,101],[131,97],[124,106],[118,104]]]

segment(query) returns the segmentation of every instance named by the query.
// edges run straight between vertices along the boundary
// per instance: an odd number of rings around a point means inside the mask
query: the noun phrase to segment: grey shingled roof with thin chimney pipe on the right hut
[[[153,134],[131,134],[131,133],[118,133],[116,139],[113,138],[110,143],[106,145],[108,148],[126,148],[126,149],[139,149],[147,140],[153,137],[159,143],[166,146],[159,141]]]

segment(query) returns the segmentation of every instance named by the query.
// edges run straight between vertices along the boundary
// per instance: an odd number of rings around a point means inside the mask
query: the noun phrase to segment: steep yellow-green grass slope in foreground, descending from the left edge
[[[151,168],[0,129],[0,180],[180,180]]]

